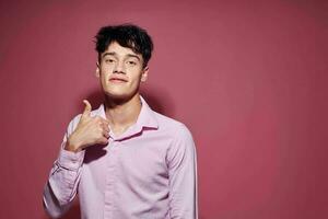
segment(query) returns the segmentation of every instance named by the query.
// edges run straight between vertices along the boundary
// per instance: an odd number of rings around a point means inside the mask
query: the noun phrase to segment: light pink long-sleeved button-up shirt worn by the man
[[[196,150],[189,130],[142,101],[137,123],[109,143],[78,153],[63,150],[80,116],[69,124],[44,191],[51,217],[68,210],[79,194],[89,219],[196,219]],[[92,112],[105,118],[104,105]]]

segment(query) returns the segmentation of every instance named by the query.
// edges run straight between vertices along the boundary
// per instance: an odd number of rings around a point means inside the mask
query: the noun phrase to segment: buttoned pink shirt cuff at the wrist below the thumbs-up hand
[[[85,151],[82,150],[75,153],[61,148],[59,152],[58,164],[61,168],[77,171],[83,163],[84,152]]]

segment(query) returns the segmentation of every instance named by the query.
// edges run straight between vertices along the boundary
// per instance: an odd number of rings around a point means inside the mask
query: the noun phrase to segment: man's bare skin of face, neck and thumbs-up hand
[[[107,145],[109,130],[119,136],[133,125],[141,110],[139,87],[147,81],[148,71],[141,54],[112,43],[101,54],[96,69],[105,94],[106,119],[92,117],[92,106],[84,100],[85,108],[65,149],[78,152],[94,145]]]

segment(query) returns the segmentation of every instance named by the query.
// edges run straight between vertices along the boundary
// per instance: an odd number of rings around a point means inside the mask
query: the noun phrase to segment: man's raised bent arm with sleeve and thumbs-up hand
[[[91,116],[91,105],[69,125],[63,137],[59,158],[55,161],[44,189],[44,207],[49,216],[58,218],[71,206],[81,177],[84,150],[94,145],[107,145],[108,122]]]

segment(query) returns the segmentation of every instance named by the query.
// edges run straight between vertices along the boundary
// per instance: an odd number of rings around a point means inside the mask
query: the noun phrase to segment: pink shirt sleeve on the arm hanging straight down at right
[[[169,215],[172,219],[197,219],[197,158],[190,131],[183,126],[168,150]]]

